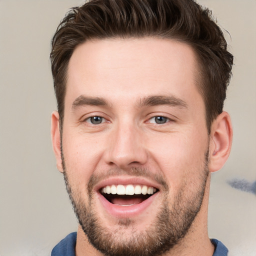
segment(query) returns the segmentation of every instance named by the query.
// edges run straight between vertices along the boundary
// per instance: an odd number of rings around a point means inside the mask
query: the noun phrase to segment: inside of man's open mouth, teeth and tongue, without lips
[[[146,200],[156,193],[158,189],[139,184],[112,184],[100,188],[99,191],[112,204],[131,206]]]

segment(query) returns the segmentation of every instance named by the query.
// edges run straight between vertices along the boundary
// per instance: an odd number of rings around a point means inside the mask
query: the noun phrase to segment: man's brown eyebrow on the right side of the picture
[[[161,96],[161,95],[153,95],[147,96],[140,99],[138,106],[156,106],[156,105],[171,105],[178,106],[181,108],[187,108],[187,103],[174,95],[170,96]]]

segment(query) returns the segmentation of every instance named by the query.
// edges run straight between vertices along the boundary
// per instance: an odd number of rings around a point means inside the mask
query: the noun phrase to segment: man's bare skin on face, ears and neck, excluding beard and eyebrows
[[[93,173],[103,176],[112,168],[142,167],[164,177],[171,207],[181,190],[187,200],[198,190],[207,150],[209,172],[226,161],[232,139],[230,118],[226,112],[218,115],[208,135],[204,102],[195,82],[196,58],[187,44],[156,38],[87,41],[74,50],[67,73],[62,149],[70,186],[85,204],[86,184]],[[100,97],[107,104],[75,104],[81,96]],[[175,97],[178,104],[139,104],[150,96]],[[103,122],[92,124],[91,116],[102,116]],[[155,116],[167,121],[157,124]],[[57,168],[63,172],[58,118],[54,111],[51,136]],[[209,182],[210,175],[188,232],[166,255],[212,255],[207,234]],[[104,227],[119,228],[125,239],[134,226],[140,232],[154,223],[163,200],[163,189],[159,184],[158,188],[156,199],[132,216],[133,225],[125,228],[105,210],[96,193],[93,207]],[[76,255],[85,252],[102,255],[78,226]]]

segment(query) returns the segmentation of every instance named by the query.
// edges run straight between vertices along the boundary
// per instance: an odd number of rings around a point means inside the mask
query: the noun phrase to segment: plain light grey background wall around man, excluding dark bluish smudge
[[[49,255],[76,230],[50,142],[55,98],[50,39],[67,9],[81,0],[0,0],[0,255]],[[256,195],[230,187],[256,179],[256,1],[200,0],[227,33],[235,66],[225,110],[233,148],[212,175],[209,236],[230,255],[256,255]]]

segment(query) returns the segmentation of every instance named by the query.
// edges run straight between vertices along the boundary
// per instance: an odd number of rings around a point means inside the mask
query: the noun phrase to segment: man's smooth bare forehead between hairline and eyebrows
[[[198,94],[195,76],[195,55],[185,43],[158,38],[91,40],[78,45],[69,60],[65,100],[81,94],[111,101],[137,101],[152,94],[189,99],[191,92]]]

